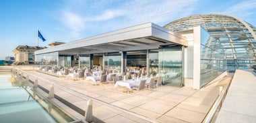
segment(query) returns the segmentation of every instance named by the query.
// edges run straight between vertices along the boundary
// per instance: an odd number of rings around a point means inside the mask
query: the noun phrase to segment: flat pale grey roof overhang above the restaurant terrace
[[[35,51],[35,54],[59,51],[59,55],[83,55],[158,49],[160,45],[187,46],[187,39],[154,23],[144,23],[41,49]]]

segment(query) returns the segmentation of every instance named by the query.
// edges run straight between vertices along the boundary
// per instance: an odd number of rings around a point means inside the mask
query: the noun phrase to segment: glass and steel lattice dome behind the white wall
[[[212,39],[202,44],[205,59],[222,61],[223,70],[248,69],[256,64],[256,27],[242,19],[226,13],[192,15],[172,21],[164,27],[180,32],[201,25]],[[208,49],[213,49],[208,51]]]

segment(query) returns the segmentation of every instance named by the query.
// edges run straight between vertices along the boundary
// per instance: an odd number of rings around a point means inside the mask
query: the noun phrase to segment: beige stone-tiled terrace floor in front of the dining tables
[[[90,81],[74,81],[72,78],[58,78],[36,71],[26,71],[24,76],[27,74],[32,81],[38,78],[38,85],[47,90],[49,90],[50,84],[46,80],[79,92],[79,94],[106,102],[110,106],[117,106],[127,112],[150,118],[154,122],[202,122],[216,98],[218,98],[219,86],[227,86],[232,79],[232,75],[225,76],[216,82],[211,82],[200,90],[186,87],[160,86],[154,90],[133,90],[131,94],[127,94],[123,92],[125,91],[123,88],[114,88],[114,84],[95,86]],[[55,86],[54,91],[57,96],[71,102],[78,108],[86,109],[88,98],[72,92],[65,92],[57,86]],[[57,102],[55,99],[51,100],[78,120],[84,118],[81,114],[66,108],[64,104]],[[94,122],[150,122],[109,105],[93,102]]]

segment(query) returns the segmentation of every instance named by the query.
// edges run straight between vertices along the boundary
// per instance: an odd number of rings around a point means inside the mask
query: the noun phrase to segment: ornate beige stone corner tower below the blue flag
[[[37,46],[28,46],[28,45],[19,45],[13,49],[15,54],[15,65],[23,64],[34,64],[34,51],[39,49],[45,49],[46,47],[37,47]]]

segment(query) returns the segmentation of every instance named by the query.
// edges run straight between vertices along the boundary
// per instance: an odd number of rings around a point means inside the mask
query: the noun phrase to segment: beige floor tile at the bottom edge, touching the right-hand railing
[[[164,116],[170,116],[172,118],[177,118],[179,120],[184,120],[186,122],[202,122],[203,118],[205,117],[205,114],[199,113],[199,112],[193,112],[190,110],[185,110],[183,108],[173,108]]]

